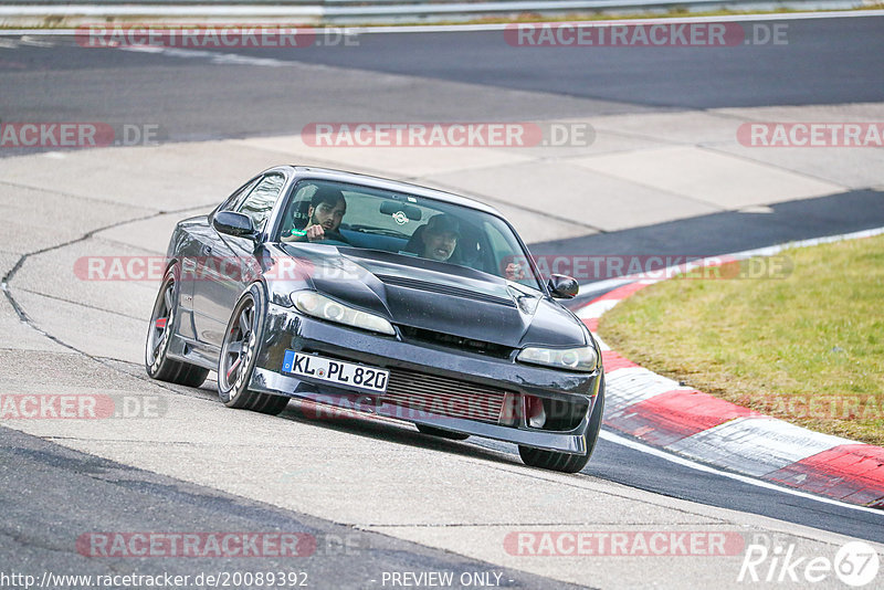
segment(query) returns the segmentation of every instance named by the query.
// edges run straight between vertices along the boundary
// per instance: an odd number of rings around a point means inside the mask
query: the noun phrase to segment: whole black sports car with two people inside
[[[518,444],[580,471],[601,426],[598,345],[494,209],[362,175],[283,166],[178,223],[147,372],[231,408],[290,398]],[[323,405],[324,407],[324,405]]]

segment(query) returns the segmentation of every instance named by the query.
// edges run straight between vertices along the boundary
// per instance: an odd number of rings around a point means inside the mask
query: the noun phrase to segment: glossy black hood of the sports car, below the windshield
[[[381,251],[282,244],[316,291],[393,324],[519,348],[587,344],[580,320],[540,292],[486,273]]]

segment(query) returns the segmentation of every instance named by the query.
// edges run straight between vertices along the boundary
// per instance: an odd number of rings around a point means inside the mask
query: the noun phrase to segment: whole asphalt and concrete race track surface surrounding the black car
[[[313,588],[382,588],[391,586],[385,572],[453,571],[498,573],[491,579],[511,588],[744,588],[762,584],[737,582],[736,554],[526,558],[502,539],[517,530],[706,530],[830,558],[849,537],[884,544],[884,515],[676,464],[612,433],[581,474],[564,476],[524,467],[512,445],[439,441],[387,420],[315,420],[295,403],[280,418],[227,410],[212,382],[188,389],[145,377],[154,283],[84,283],[71,272],[81,256],[161,254],[176,220],[282,162],[472,192],[499,206],[535,254],[550,256],[712,255],[884,226],[880,148],[769,156],[732,145],[745,120],[884,120],[884,17],[778,22],[788,24],[788,45],[513,48],[499,31],[476,31],[365,33],[350,46],[133,51],[64,35],[0,36],[1,123],[147,125],[158,143],[0,148],[0,211],[10,223],[0,239],[9,343],[0,394],[134,394],[162,408],[160,420],[2,421],[0,571],[306,571]],[[360,120],[586,120],[598,139],[583,151],[464,156],[322,151],[293,139],[311,123]],[[654,154],[697,169],[712,162],[735,178],[769,172],[770,182],[738,204],[709,177],[696,192],[665,172],[629,183]],[[591,197],[581,200],[583,190]],[[588,285],[579,301],[598,294]],[[313,535],[316,551],[286,561],[87,558],[76,548],[94,531],[169,530],[295,530]],[[832,576],[814,587],[839,583]]]

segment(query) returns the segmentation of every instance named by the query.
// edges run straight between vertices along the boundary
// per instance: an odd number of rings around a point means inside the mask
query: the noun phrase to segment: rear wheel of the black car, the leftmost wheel
[[[200,387],[209,376],[209,369],[172,360],[168,357],[169,343],[175,330],[178,313],[178,280],[176,267],[166,271],[159,287],[154,310],[150,313],[150,325],[145,341],[145,369],[152,379],[178,383],[179,386]]]

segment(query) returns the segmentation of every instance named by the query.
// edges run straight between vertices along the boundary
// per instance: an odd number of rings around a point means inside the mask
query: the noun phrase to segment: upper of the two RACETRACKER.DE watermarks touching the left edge
[[[97,148],[159,145],[157,124],[102,122],[0,122],[0,148]]]

